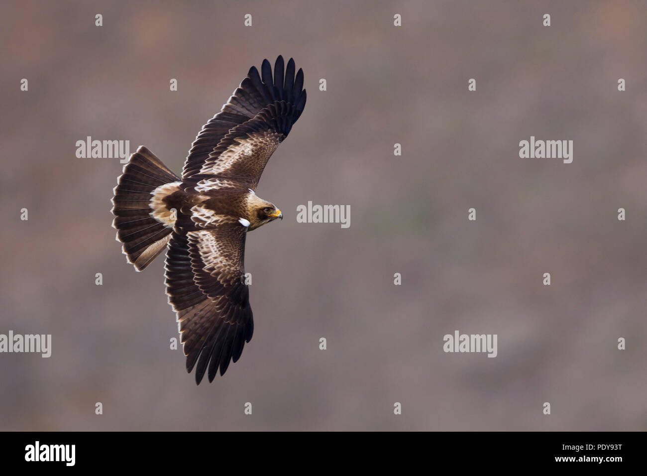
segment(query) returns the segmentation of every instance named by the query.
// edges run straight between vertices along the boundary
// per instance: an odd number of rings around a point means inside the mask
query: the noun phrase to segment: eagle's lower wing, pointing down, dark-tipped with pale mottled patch
[[[245,227],[173,232],[166,255],[166,292],[177,313],[188,372],[213,381],[252,339],[254,321],[243,283]]]

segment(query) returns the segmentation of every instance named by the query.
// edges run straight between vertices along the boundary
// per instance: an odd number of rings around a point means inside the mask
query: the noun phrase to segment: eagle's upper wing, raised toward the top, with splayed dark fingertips
[[[184,188],[219,177],[256,189],[265,164],[303,112],[302,88],[303,71],[299,69],[295,76],[292,59],[285,74],[281,56],[273,74],[267,60],[261,74],[252,67],[223,110],[193,142],[182,172]],[[225,132],[225,128],[230,129]]]

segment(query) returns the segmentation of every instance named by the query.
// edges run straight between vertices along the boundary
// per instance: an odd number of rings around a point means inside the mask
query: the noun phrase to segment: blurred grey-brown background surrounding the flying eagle
[[[0,333],[52,334],[52,356],[0,354],[0,429],[647,429],[644,3],[2,10]],[[286,220],[247,240],[254,339],[197,387],[169,348],[163,259],[135,273],[115,242],[122,164],[75,142],[145,144],[180,172],[278,54],[308,91],[258,190]],[[572,139],[573,163],[520,159],[531,135]],[[351,227],[297,223],[308,200],[350,205]],[[454,330],[498,334],[498,357],[445,354]]]

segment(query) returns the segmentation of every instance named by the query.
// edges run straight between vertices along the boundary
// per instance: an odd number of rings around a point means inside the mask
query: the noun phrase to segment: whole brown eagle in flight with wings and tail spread
[[[188,372],[213,381],[252,339],[245,284],[245,237],[283,218],[259,198],[265,164],[305,106],[303,71],[294,60],[251,67],[225,106],[195,138],[176,176],[146,147],[131,155],[113,197],[113,227],[123,253],[142,271],[166,249],[166,294]]]

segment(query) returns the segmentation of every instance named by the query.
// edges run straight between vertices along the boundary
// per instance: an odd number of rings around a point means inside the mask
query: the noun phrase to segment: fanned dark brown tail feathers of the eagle
[[[124,173],[118,179],[113,197],[113,227],[116,239],[123,244],[128,262],[142,271],[158,256],[171,239],[172,227],[151,216],[151,193],[180,177],[142,146],[131,155]]]

